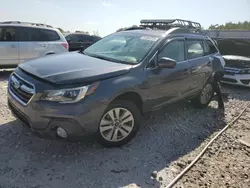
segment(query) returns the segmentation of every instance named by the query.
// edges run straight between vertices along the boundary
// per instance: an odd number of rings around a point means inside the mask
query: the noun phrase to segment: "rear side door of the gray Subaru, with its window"
[[[187,39],[187,57],[191,76],[188,95],[193,95],[202,90],[212,71],[211,57],[205,53],[203,39]]]

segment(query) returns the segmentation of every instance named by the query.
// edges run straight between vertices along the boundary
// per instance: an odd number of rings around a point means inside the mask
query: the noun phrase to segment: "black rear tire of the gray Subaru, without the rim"
[[[203,92],[204,88],[206,88],[206,87],[211,87],[211,91],[210,91],[211,95],[209,94],[210,96],[208,97],[208,99],[206,100],[206,102],[204,102],[204,101],[202,102],[202,92]],[[211,102],[211,100],[213,98],[213,95],[214,95],[213,85],[211,83],[207,83],[203,87],[203,89],[200,92],[200,94],[197,97],[195,97],[194,99],[191,100],[191,103],[193,104],[193,106],[195,108],[198,108],[198,109],[206,108],[209,105],[209,103]]]

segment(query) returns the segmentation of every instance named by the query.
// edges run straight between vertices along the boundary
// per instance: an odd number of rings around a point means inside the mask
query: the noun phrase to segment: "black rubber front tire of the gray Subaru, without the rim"
[[[108,113],[110,110],[114,108],[124,108],[128,110],[129,112],[131,112],[134,118],[134,126],[132,128],[132,131],[128,134],[127,137],[125,137],[124,139],[120,141],[109,141],[102,136],[101,131],[100,131],[100,124],[101,124],[102,118],[104,117],[106,113]],[[97,141],[101,145],[106,146],[106,147],[118,147],[118,146],[128,143],[133,137],[135,137],[136,133],[140,129],[140,118],[141,118],[140,110],[134,103],[130,101],[126,101],[126,100],[115,100],[107,107],[107,109],[104,111],[99,121],[98,131],[97,131],[97,136],[98,136]]]

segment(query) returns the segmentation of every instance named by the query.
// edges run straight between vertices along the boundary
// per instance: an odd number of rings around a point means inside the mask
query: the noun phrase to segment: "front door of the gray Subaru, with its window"
[[[147,68],[149,87],[147,106],[153,110],[184,98],[190,84],[189,62],[185,57],[184,38],[168,41],[156,59],[159,60],[162,57],[174,59],[177,64],[175,68],[157,66]]]

